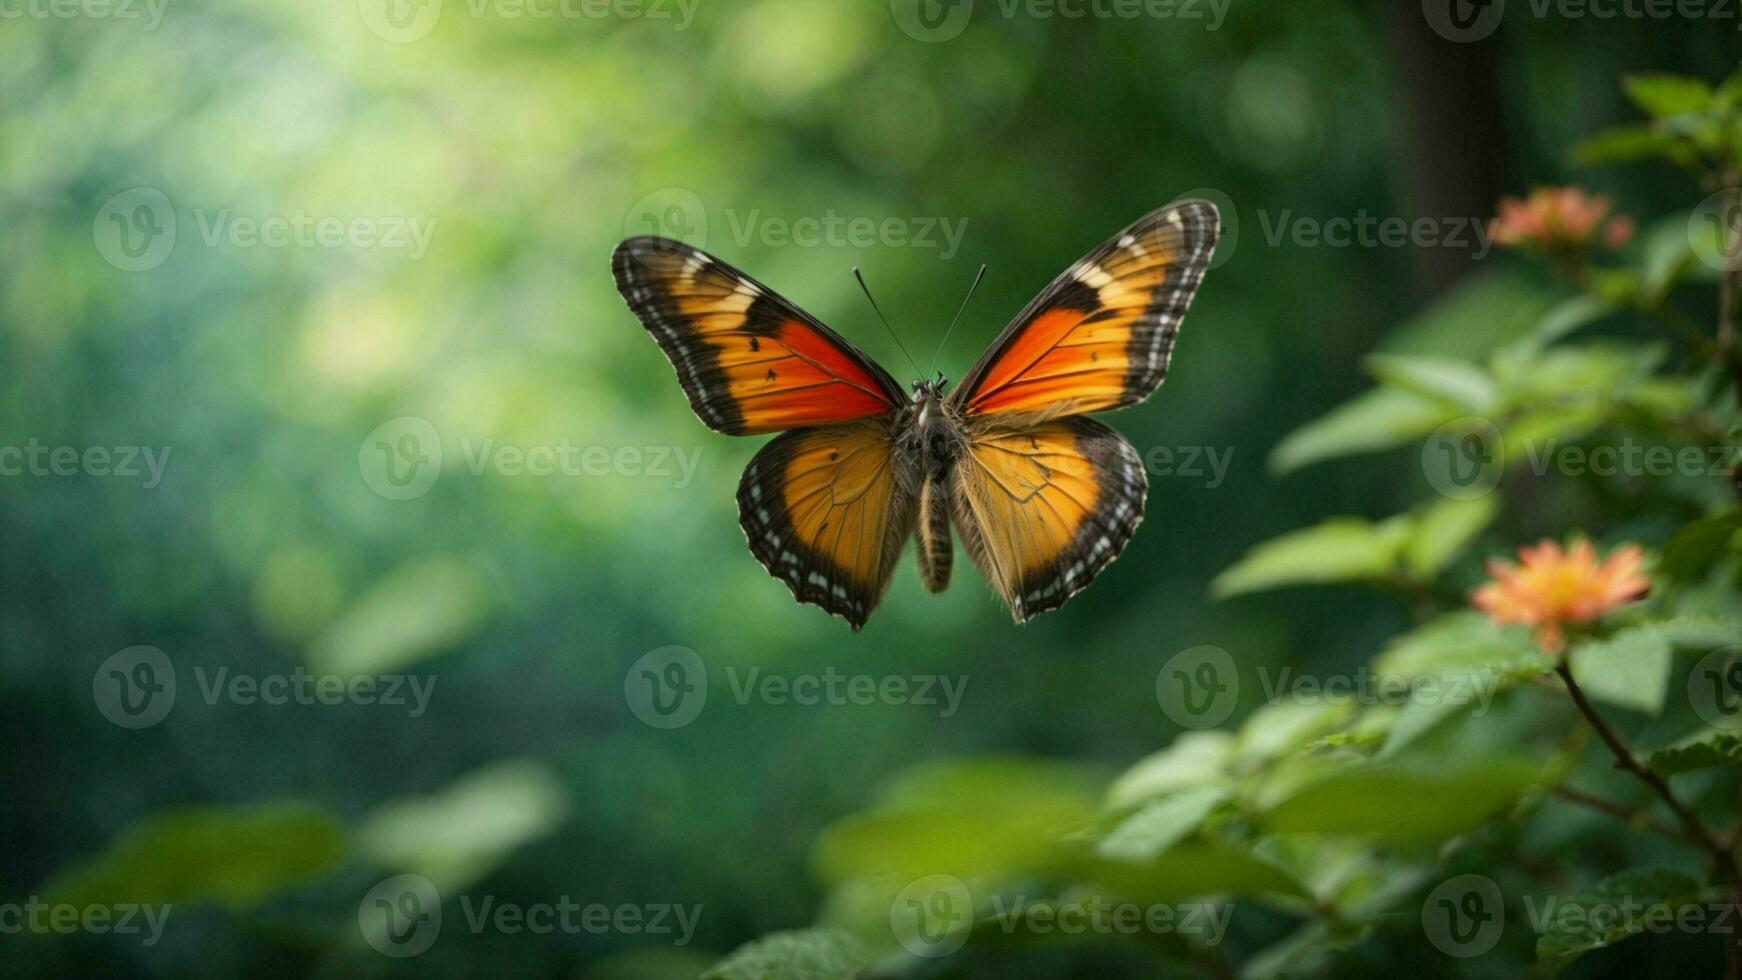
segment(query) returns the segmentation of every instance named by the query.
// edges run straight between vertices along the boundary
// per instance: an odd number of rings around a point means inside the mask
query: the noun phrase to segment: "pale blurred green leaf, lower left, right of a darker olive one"
[[[549,836],[568,811],[556,775],[533,759],[476,769],[446,789],[376,806],[357,832],[378,865],[462,889],[524,844]]]

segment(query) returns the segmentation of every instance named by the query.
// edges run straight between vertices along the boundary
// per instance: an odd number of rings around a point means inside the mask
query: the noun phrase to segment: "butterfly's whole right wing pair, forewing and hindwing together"
[[[967,432],[951,519],[1017,621],[1094,581],[1143,520],[1138,451],[1082,413],[1160,386],[1218,226],[1204,200],[1139,218],[1042,291],[951,395]]]

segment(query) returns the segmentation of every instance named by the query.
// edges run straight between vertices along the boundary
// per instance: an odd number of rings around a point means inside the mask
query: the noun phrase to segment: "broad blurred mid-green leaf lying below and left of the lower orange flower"
[[[1531,759],[1491,759],[1463,769],[1402,764],[1348,769],[1275,804],[1273,834],[1362,834],[1381,841],[1442,841],[1493,820],[1538,782]]]

